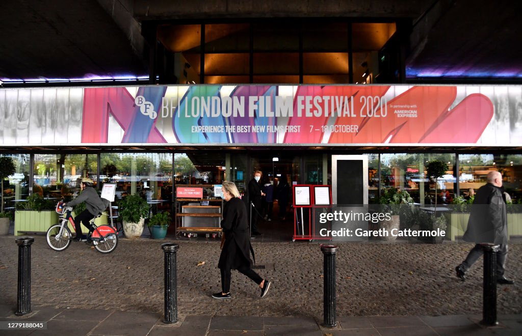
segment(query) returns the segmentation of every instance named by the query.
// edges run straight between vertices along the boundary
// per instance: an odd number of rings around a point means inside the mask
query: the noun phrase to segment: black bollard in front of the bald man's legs
[[[499,245],[480,244],[484,250],[484,292],[482,306],[482,321],[485,326],[496,326],[496,253]]]

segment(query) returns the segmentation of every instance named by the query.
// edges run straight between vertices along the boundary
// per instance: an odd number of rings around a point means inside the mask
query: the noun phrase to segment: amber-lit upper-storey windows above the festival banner
[[[165,23],[157,38],[161,51],[174,55],[180,84],[372,83],[378,52],[396,32],[395,22],[314,23]],[[171,79],[171,70],[159,70],[160,82]]]

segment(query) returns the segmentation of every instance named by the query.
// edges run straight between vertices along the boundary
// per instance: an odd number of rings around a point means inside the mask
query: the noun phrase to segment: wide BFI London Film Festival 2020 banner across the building
[[[522,145],[520,85],[175,85],[0,90],[4,146]]]

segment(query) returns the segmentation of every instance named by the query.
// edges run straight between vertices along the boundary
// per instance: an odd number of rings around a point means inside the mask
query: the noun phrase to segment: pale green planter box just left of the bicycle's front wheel
[[[15,211],[15,235],[27,232],[47,232],[47,230],[58,223],[58,214],[54,210]]]

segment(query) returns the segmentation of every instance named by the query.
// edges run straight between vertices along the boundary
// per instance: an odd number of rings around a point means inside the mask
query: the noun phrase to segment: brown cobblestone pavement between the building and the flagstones
[[[165,241],[118,242],[101,254],[73,242],[52,251],[43,235],[33,235],[32,305],[55,308],[115,309],[163,312]],[[256,284],[232,272],[233,300],[212,300],[221,290],[217,262],[219,242],[176,241],[177,291],[180,315],[323,316],[323,254],[316,242],[253,242],[259,270],[273,282],[260,300]],[[482,312],[482,259],[455,277],[455,266],[471,244],[339,243],[337,316],[463,315]],[[506,276],[517,281],[499,286],[499,314],[522,313],[522,244],[509,245]],[[16,307],[18,246],[15,237],[0,237],[0,301]],[[198,262],[205,264],[197,266]]]

